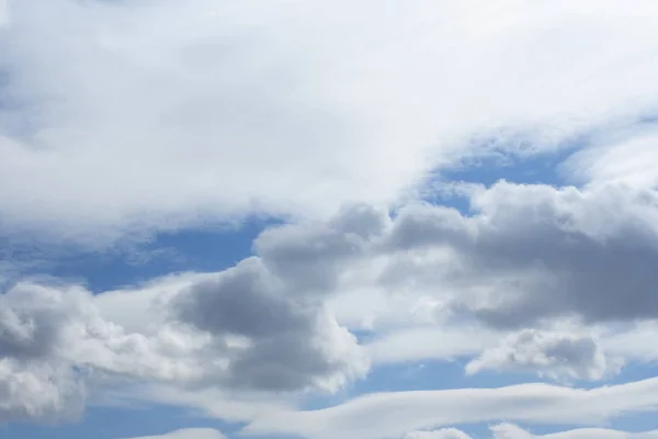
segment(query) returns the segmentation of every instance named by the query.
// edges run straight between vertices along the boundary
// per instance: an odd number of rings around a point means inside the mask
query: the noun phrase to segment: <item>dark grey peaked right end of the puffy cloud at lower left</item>
[[[297,391],[336,390],[367,370],[355,338],[321,304],[295,300],[261,259],[251,258],[192,285],[172,304],[174,317],[208,331],[219,345],[246,337],[222,378],[227,386]]]

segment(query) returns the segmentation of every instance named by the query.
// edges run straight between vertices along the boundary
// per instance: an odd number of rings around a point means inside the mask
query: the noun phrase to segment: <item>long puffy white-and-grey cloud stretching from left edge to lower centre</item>
[[[355,338],[321,304],[262,283],[263,270],[247,260],[212,280],[201,275],[164,302],[164,315],[143,315],[163,322],[156,331],[103,319],[80,289],[16,285],[0,295],[1,414],[79,413],[91,378],[266,393],[336,391],[362,376],[368,361]]]

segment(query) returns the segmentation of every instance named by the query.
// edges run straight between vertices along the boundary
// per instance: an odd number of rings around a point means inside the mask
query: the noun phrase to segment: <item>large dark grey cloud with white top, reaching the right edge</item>
[[[412,312],[422,303],[430,320],[472,316],[504,330],[563,317],[589,325],[657,317],[655,191],[501,181],[475,189],[469,201],[468,214],[429,204],[398,210],[352,259],[339,291],[367,294],[376,308],[385,292],[399,306],[383,313],[407,319],[422,317]],[[367,301],[338,300],[353,324],[360,313],[377,320]]]

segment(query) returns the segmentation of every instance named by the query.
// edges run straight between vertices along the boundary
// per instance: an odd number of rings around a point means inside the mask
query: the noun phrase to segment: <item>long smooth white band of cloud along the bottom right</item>
[[[308,412],[277,413],[249,424],[245,434],[300,435],[309,439],[398,438],[409,431],[508,419],[534,424],[599,425],[622,414],[653,409],[658,380],[592,390],[522,384],[378,393]]]

